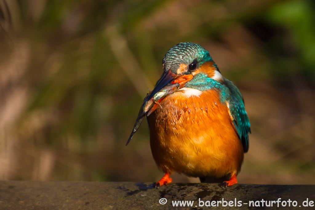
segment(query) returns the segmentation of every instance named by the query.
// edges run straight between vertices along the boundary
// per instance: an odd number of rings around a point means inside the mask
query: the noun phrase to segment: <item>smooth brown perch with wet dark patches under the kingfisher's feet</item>
[[[222,189],[219,184],[171,183],[158,190],[154,185],[132,182],[0,181],[0,209],[203,209],[207,205],[218,205],[215,209],[232,209],[235,205],[238,209],[252,209],[254,204],[255,209],[261,208],[262,203],[264,209],[277,208],[277,202],[272,207],[266,207],[265,201],[267,205],[268,201],[279,201],[279,207],[286,204],[284,208],[288,208],[290,203],[290,209],[296,201],[296,208],[314,209],[312,205],[315,201],[315,185],[235,184]],[[165,202],[162,198],[167,199],[165,204],[160,204]],[[187,203],[185,207],[180,207],[180,203],[177,203],[178,207],[173,207],[177,201],[194,202],[189,207]],[[258,204],[260,207],[257,207]],[[306,204],[308,207],[305,207]]]

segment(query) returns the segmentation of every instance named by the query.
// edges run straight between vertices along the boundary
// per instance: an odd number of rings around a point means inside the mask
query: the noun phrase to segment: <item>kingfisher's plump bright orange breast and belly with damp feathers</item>
[[[215,90],[175,92],[149,117],[152,155],[163,172],[219,178],[240,170],[243,147]]]

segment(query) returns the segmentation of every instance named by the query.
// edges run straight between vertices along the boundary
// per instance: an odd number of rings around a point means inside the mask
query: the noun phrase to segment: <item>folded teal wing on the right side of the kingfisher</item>
[[[249,133],[251,133],[251,131],[249,119],[245,111],[243,96],[233,82],[225,79],[225,84],[229,88],[231,93],[231,99],[228,102],[229,109],[233,118],[233,124],[239,138],[242,141],[244,152],[247,152],[249,146],[248,135]]]

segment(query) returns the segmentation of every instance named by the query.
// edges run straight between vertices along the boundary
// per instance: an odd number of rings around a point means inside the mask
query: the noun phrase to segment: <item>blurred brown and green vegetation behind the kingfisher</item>
[[[194,42],[245,99],[239,183],[315,184],[314,11],[312,0],[0,0],[0,179],[159,180],[147,123],[125,144],[166,51]]]

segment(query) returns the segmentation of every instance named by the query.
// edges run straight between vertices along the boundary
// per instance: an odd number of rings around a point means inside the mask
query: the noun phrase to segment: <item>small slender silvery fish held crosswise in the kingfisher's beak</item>
[[[126,146],[129,144],[130,140],[132,139],[135,132],[137,132],[143,118],[145,116],[149,116],[157,107],[158,105],[161,106],[159,103],[168,95],[173,94],[176,90],[180,88],[179,83],[168,83],[166,86],[161,88],[156,93],[146,94],[146,97],[143,99],[137,120],[135,122],[134,128],[129,136]],[[150,96],[153,96],[150,98]]]

